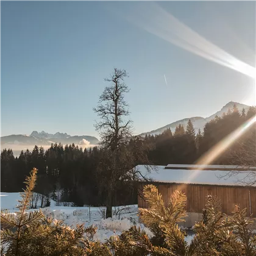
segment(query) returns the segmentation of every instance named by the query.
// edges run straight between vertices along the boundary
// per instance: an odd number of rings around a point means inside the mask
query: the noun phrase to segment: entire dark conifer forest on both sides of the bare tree
[[[188,121],[185,129],[179,125],[173,134],[170,129],[166,129],[160,135],[146,135],[144,139],[130,140],[127,148],[130,148],[129,152],[133,152],[133,157],[136,157],[138,144],[141,147],[141,143],[146,143],[149,150],[145,152],[149,162],[154,165],[194,163],[255,114],[255,107],[249,108],[247,113],[244,110],[239,113],[234,105],[228,113],[222,117],[216,116],[207,123],[203,131],[196,133],[193,124]],[[213,164],[254,165],[255,136],[254,124],[239,141],[216,158]],[[38,193],[52,197],[55,201],[74,202],[76,205],[102,205],[107,194],[102,190],[102,183],[105,183],[107,189],[110,179],[107,171],[98,171],[104,154],[105,150],[101,147],[82,149],[74,144],[52,144],[46,151],[35,146],[32,152],[21,151],[16,158],[12,149],[4,149],[0,157],[0,191],[21,191],[24,187],[24,177],[36,167]],[[140,161],[135,159],[134,164],[140,164]],[[134,204],[137,196],[135,187],[128,181],[125,183],[117,179],[115,182],[115,204]]]

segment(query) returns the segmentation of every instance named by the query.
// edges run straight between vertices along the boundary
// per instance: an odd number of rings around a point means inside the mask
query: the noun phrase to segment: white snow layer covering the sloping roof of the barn
[[[136,166],[137,171],[140,171],[143,177],[160,183],[190,183],[205,185],[244,186],[246,185],[246,183],[251,183],[252,178],[255,178],[256,176],[256,172],[254,174],[251,170],[238,172],[235,168],[233,175],[230,175],[230,171],[224,171],[223,169],[201,170],[179,169],[179,167],[177,167],[177,169],[165,169],[166,166],[151,167],[153,167],[152,170],[148,171],[148,168],[146,168],[146,166],[144,165]],[[145,180],[141,177],[141,181],[144,182]],[[256,187],[256,184],[251,186]]]

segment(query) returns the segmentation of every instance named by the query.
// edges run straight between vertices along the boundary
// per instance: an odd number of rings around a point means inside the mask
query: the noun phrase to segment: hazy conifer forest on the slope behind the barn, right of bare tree
[[[193,124],[188,121],[187,127],[179,125],[174,133],[166,129],[160,135],[146,135],[145,140],[154,145],[149,152],[149,160],[155,165],[192,164],[217,143],[225,146],[224,138],[232,134],[238,127],[244,129],[240,138],[232,143],[212,164],[215,165],[255,165],[256,155],[256,125],[255,122],[247,128],[249,122],[256,115],[256,107],[250,107],[247,112],[240,113],[236,105],[222,116],[215,116],[205,124],[204,130],[195,132]]]

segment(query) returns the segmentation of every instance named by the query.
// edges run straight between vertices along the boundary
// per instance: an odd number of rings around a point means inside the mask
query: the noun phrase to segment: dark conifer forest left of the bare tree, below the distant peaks
[[[102,151],[98,147],[82,149],[78,146],[52,144],[51,148],[35,146],[32,152],[21,151],[14,157],[12,149],[4,149],[0,158],[0,191],[17,192],[24,188],[24,178],[32,168],[38,169],[36,192],[55,201],[74,202],[76,205],[101,205],[97,165]],[[127,191],[119,191],[119,195]],[[124,198],[123,198],[124,199]]]

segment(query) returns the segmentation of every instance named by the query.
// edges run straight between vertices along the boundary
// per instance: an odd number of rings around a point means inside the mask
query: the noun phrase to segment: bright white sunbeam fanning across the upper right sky
[[[163,38],[180,48],[193,52],[207,60],[234,69],[246,76],[255,78],[256,71],[253,66],[242,62],[233,55],[206,40],[187,25],[183,24],[170,13],[163,10],[155,2],[138,5],[133,13],[123,13],[131,23],[148,32]]]

